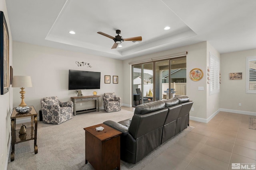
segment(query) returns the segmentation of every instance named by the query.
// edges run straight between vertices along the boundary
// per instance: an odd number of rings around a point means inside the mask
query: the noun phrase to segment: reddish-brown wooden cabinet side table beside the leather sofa
[[[96,127],[104,127],[96,131]],[[96,170],[120,170],[120,135],[122,132],[104,124],[84,128],[85,130],[85,164]]]

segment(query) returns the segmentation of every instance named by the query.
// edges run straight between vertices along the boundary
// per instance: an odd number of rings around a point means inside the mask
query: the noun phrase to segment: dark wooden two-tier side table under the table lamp
[[[36,136],[37,136],[37,112],[34,106],[29,106],[31,111],[27,113],[18,113],[15,108],[12,111],[11,115],[11,127],[12,127],[12,152],[11,152],[11,161],[14,161],[14,145],[16,143],[26,142],[34,140],[34,152],[37,154],[37,145],[36,145]],[[27,127],[27,133],[20,135],[20,129],[16,130],[16,118],[20,117],[31,117],[31,127]]]

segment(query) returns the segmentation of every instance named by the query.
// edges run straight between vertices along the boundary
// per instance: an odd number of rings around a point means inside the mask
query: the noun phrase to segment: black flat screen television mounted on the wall
[[[100,89],[100,72],[69,70],[68,90]]]

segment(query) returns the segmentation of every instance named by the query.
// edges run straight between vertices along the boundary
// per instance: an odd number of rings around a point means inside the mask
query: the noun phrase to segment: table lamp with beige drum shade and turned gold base
[[[12,87],[19,87],[21,89],[20,96],[21,96],[21,103],[20,107],[27,106],[24,102],[24,94],[26,93],[24,91],[25,87],[32,87],[31,77],[30,76],[13,76],[12,80]]]

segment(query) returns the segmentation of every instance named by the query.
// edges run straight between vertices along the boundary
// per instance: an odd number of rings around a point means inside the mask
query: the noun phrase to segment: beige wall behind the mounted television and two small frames
[[[27,105],[33,105],[36,111],[41,109],[40,99],[43,97],[58,96],[60,100],[68,101],[70,97],[76,96],[76,90],[68,90],[68,70],[101,72],[100,89],[82,90],[84,96],[91,96],[93,91],[97,91],[101,96],[100,107],[103,107],[102,94],[106,92],[115,92],[117,96],[122,97],[121,60],[17,41],[13,41],[13,49],[14,76],[31,76],[33,87],[25,88],[25,102]],[[76,61],[90,63],[92,67],[78,66]],[[104,84],[104,75],[111,76],[111,84]],[[112,76],[118,76],[118,84],[112,84]],[[13,89],[14,106],[21,102],[19,92],[20,88]],[[82,104],[84,109],[94,106],[93,102]]]

